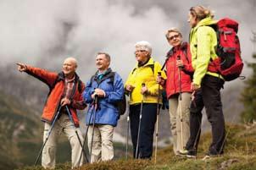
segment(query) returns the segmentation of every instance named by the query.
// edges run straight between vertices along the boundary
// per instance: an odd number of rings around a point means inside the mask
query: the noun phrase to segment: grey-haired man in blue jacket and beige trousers
[[[120,75],[109,68],[109,64],[109,54],[98,52],[97,72],[86,83],[83,95],[86,103],[90,104],[86,124],[89,126],[87,141],[92,153],[91,163],[112,160],[114,157],[113,133],[119,119],[116,105],[123,98],[124,84]],[[97,103],[93,104],[94,101]]]

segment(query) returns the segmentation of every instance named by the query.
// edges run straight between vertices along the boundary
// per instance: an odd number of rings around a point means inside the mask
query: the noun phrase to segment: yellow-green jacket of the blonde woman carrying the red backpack
[[[210,17],[199,21],[198,25],[190,31],[190,50],[192,53],[192,67],[195,69],[193,74],[193,83],[201,85],[201,81],[205,74],[215,77],[222,76],[220,74],[208,71],[210,58],[217,58],[215,47],[217,46],[216,32],[209,25],[215,25],[217,20]]]

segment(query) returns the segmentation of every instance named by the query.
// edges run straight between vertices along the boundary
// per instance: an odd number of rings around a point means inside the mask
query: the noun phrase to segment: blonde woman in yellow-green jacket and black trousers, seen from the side
[[[190,8],[188,22],[192,27],[190,32],[190,49],[192,52],[192,67],[194,68],[192,91],[195,99],[190,112],[190,139],[186,144],[186,156],[195,157],[201,132],[202,110],[205,107],[207,118],[212,126],[212,143],[209,152],[204,157],[223,154],[225,143],[225,121],[220,99],[220,89],[224,80],[220,74],[208,71],[209,63],[217,58],[215,47],[217,37],[213,25],[214,15],[209,8],[196,6]]]

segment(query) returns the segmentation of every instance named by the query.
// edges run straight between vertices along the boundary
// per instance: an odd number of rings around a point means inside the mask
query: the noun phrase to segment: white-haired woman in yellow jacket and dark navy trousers
[[[153,132],[158,102],[160,104],[162,102],[159,97],[162,87],[157,83],[158,73],[160,72],[164,79],[166,75],[161,71],[161,65],[151,58],[152,47],[147,41],[139,41],[135,47],[136,67],[131,70],[125,82],[125,91],[130,94],[131,140],[134,158],[149,159],[153,152]],[[142,119],[138,140],[141,108]],[[139,142],[136,151],[137,140]]]

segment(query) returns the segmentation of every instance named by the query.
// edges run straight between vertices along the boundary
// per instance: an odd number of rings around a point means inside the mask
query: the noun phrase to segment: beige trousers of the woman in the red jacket
[[[173,137],[173,150],[175,154],[177,154],[177,151],[184,150],[186,146],[186,142],[190,135],[190,131],[189,131],[190,103],[191,103],[191,93],[189,92],[181,93],[181,101],[179,96],[173,96],[173,97],[170,97],[169,99],[170,131]],[[182,127],[182,130],[181,130],[181,127]]]

